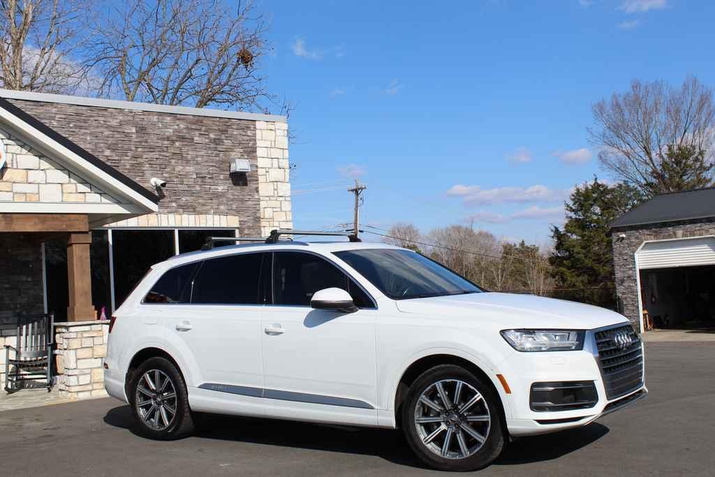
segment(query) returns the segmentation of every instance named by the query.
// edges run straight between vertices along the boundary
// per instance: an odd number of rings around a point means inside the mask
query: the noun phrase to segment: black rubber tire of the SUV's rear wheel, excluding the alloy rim
[[[172,401],[172,403],[175,404],[174,415],[169,419],[168,426],[161,429],[152,428],[152,426],[147,424],[139,408],[139,400],[137,400],[137,388],[142,381],[142,377],[147,372],[151,372],[151,375],[154,375],[155,371],[159,371],[163,376],[171,380],[176,395],[175,403]],[[147,389],[143,384],[142,386],[144,389]],[[194,421],[192,419],[191,409],[189,408],[189,396],[186,383],[184,383],[184,378],[171,361],[159,357],[149,358],[144,361],[134,373],[129,390],[131,393],[129,398],[132,401],[132,411],[134,418],[137,420],[137,428],[142,436],[159,441],[172,441],[174,439],[187,437],[194,431]],[[141,393],[139,393],[139,395],[143,396]],[[158,418],[161,418],[161,415],[159,415]],[[160,423],[159,426],[163,426],[163,423]]]

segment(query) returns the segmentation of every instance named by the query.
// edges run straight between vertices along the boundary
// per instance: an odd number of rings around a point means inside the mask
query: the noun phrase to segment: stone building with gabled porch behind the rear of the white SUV
[[[206,237],[292,228],[289,169],[282,116],[0,90],[0,317],[109,317]]]

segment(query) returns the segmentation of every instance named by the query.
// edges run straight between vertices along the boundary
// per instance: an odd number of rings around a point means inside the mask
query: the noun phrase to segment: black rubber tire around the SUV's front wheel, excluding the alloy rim
[[[430,447],[428,447],[428,444],[423,443],[423,438],[420,437],[420,430],[418,430],[419,425],[415,423],[415,416],[418,415],[418,413],[421,415],[423,413],[423,409],[426,409],[422,407],[424,406],[424,404],[420,403],[420,396],[425,392],[425,390],[436,390],[435,383],[442,381],[445,382],[443,386],[446,386],[448,385],[448,383],[453,382],[452,380],[460,380],[463,383],[466,383],[467,385],[471,386],[478,393],[480,393],[483,399],[483,403],[478,402],[475,405],[484,406],[482,407],[482,409],[488,410],[488,414],[490,417],[490,422],[483,424],[483,426],[485,426],[484,429],[486,433],[486,438],[481,444],[481,447],[465,458],[459,457],[460,455],[464,455],[462,451],[454,451],[453,453],[450,453],[453,458],[439,456],[437,453],[435,453],[435,451],[431,450]],[[469,389],[467,386],[461,386],[463,388]],[[428,393],[429,392],[430,391],[428,391]],[[454,396],[451,396],[451,398],[453,397]],[[443,405],[442,401],[440,401],[438,404],[440,406]],[[420,408],[418,408],[418,405],[420,406]],[[459,406],[455,406],[455,408],[458,407]],[[430,417],[436,417],[438,415],[441,415],[437,411],[430,412],[433,413],[433,416]],[[447,413],[445,413],[445,415],[446,414]],[[480,414],[483,415],[483,411]],[[466,419],[466,414],[460,415],[462,415]],[[458,415],[455,415],[455,420],[457,417]],[[423,424],[423,426],[425,425]],[[442,424],[434,423],[431,424],[431,426],[434,426],[433,429],[436,430],[436,428],[438,426],[442,426]],[[445,426],[446,427],[444,428],[442,435],[444,435],[450,428],[450,422],[445,421]],[[486,431],[487,426],[488,431]],[[423,461],[431,468],[435,468],[440,471],[476,471],[492,463],[495,458],[499,456],[502,449],[504,448],[505,436],[503,431],[503,422],[501,418],[501,402],[498,400],[498,396],[495,395],[493,388],[491,388],[490,385],[483,383],[483,381],[473,375],[473,373],[470,373],[468,370],[465,370],[465,368],[461,368],[457,365],[438,365],[434,368],[430,368],[429,370],[426,370],[424,373],[422,373],[415,380],[415,382],[410,385],[410,388],[405,397],[405,400],[403,401],[402,406],[402,428],[408,445],[415,453],[415,455],[418,456],[421,461]],[[451,436],[456,436],[457,433],[464,432],[459,430],[460,428],[458,425],[454,427],[454,429],[456,429],[456,431],[450,431]],[[423,429],[423,434],[424,433],[425,432]],[[465,436],[468,435],[466,433],[463,433],[461,438],[465,438]],[[436,439],[437,437],[435,437],[435,442]],[[443,442],[444,441],[446,441],[446,438],[443,438]],[[478,441],[470,442],[473,443],[473,446],[471,446],[471,448],[469,449],[471,451],[472,449],[476,448],[476,446],[478,446]],[[457,444],[453,442],[451,443],[451,446],[457,445],[461,446],[461,442],[458,442]],[[467,448],[469,448],[469,446],[467,446]]]

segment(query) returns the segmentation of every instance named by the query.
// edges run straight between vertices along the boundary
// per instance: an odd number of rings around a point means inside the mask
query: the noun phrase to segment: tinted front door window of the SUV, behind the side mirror
[[[323,288],[346,290],[358,308],[373,308],[373,301],[327,260],[301,252],[275,252],[273,259],[273,300],[275,305],[310,305],[312,295]]]

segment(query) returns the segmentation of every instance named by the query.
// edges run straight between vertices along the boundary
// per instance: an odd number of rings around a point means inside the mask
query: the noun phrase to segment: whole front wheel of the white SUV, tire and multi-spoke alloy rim
[[[483,468],[503,448],[493,391],[455,365],[436,366],[415,380],[402,422],[410,448],[440,470]]]

